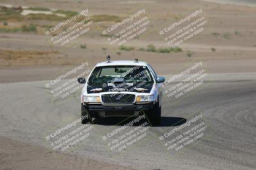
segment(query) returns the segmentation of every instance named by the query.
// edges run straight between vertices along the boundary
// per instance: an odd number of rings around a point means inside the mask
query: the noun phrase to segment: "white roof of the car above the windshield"
[[[110,62],[99,62],[96,67],[100,66],[148,66],[147,62],[134,60],[111,60]]]

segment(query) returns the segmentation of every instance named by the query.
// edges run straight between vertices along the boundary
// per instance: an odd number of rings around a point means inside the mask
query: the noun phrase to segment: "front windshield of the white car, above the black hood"
[[[146,66],[102,66],[95,67],[88,85],[115,81],[152,83],[153,79]]]

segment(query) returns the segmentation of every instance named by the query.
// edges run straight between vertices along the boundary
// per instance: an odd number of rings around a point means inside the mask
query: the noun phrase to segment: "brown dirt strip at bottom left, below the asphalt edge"
[[[52,152],[45,148],[0,137],[1,169],[123,169],[106,162]]]

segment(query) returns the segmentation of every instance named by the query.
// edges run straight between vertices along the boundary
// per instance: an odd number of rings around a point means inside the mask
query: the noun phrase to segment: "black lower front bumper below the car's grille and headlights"
[[[131,117],[132,115],[143,114],[143,111],[154,108],[154,103],[141,104],[88,104],[83,103],[84,107],[92,113],[92,116],[99,117]],[[93,117],[94,117],[93,116]]]

